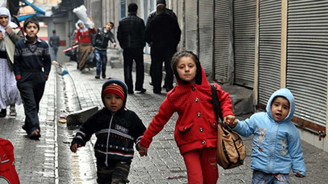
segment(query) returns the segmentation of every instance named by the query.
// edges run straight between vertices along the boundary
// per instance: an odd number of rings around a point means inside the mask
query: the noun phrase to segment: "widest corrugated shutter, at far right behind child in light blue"
[[[288,1],[287,88],[295,116],[325,126],[327,103],[328,1]]]

